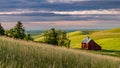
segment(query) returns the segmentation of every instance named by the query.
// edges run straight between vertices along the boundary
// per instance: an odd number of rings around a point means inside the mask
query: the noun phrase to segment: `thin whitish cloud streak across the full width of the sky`
[[[59,15],[88,15],[88,14],[120,14],[120,9],[98,9],[98,10],[80,10],[80,11],[48,11],[48,10],[16,10],[0,12],[0,15],[27,14],[27,13],[53,13]]]

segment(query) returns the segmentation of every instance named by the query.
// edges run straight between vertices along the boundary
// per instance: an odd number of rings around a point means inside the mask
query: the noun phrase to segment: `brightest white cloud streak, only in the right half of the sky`
[[[83,11],[54,11],[55,14],[85,15],[85,14],[120,14],[120,9],[83,10]]]

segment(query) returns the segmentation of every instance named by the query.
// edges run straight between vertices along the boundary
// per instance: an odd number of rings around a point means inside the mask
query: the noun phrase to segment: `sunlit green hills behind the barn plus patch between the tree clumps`
[[[68,33],[68,37],[71,40],[71,48],[81,48],[81,42],[86,37],[90,36],[95,40],[103,49],[107,50],[120,50],[120,28],[110,30],[84,30],[74,31]],[[44,41],[42,35],[36,35],[34,41]],[[109,41],[106,41],[109,40]]]

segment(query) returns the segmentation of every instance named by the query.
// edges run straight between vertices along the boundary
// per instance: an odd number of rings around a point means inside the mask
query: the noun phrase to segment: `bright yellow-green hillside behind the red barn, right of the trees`
[[[80,48],[81,42],[86,36],[90,36],[100,46],[102,46],[103,49],[120,50],[120,46],[119,46],[120,41],[118,41],[120,39],[120,28],[111,29],[111,30],[101,30],[101,31],[93,32],[88,35],[83,34],[83,35],[76,35],[74,37],[70,37],[72,41],[71,47]]]

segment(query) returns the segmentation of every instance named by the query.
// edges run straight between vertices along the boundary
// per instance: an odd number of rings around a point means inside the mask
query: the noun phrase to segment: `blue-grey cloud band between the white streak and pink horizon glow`
[[[46,16],[45,16],[46,15]],[[18,20],[23,22],[39,22],[39,21],[91,21],[91,20],[105,20],[105,21],[120,21],[119,15],[54,15],[54,14],[33,14],[29,15],[3,15],[0,16],[1,22],[16,22]],[[102,23],[102,22],[101,22]]]

